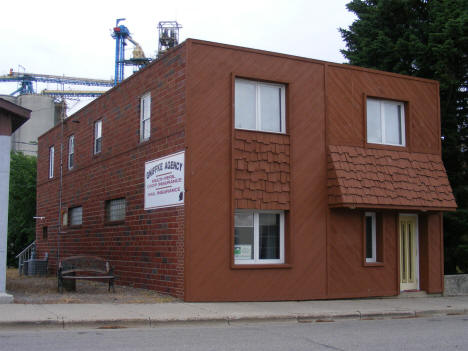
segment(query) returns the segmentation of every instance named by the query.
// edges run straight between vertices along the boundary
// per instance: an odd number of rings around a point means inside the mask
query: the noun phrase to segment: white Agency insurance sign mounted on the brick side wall
[[[145,210],[182,206],[185,188],[185,152],[145,163]]]

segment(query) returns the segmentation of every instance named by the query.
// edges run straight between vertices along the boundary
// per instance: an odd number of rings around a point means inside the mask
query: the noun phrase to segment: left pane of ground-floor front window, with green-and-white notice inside
[[[234,258],[254,259],[253,213],[236,213],[234,216]]]

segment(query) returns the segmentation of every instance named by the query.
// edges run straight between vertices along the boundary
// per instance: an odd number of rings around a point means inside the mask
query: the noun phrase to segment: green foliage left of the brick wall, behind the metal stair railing
[[[8,203],[7,265],[17,264],[15,256],[36,237],[37,158],[11,153]]]

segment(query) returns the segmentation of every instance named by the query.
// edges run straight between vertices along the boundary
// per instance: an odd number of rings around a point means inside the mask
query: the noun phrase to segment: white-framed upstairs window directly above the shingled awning
[[[405,104],[367,99],[367,142],[405,146]]]

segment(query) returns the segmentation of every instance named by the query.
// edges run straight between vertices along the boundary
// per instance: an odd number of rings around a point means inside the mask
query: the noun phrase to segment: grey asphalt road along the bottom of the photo
[[[152,329],[0,330],[0,350],[468,350],[468,316]]]

